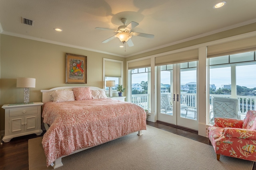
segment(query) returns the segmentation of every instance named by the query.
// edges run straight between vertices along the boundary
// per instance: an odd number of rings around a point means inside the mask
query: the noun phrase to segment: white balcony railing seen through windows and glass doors
[[[170,101],[172,101],[172,95],[170,93]],[[228,97],[231,95],[221,95],[221,94],[210,94],[210,106],[212,105],[212,97]],[[238,98],[238,106],[240,106],[240,113],[246,113],[248,110],[256,109],[256,96],[237,96]],[[196,94],[192,93],[180,93],[180,104],[186,104],[189,108],[196,108]],[[148,109],[149,107],[149,94],[132,94],[132,103],[144,108]]]

